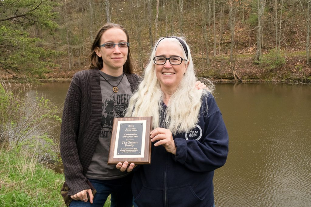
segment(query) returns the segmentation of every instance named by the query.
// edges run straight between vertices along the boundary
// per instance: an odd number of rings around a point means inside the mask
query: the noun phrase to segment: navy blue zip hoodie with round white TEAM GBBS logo
[[[173,135],[176,155],[151,144],[151,165],[134,172],[132,191],[141,207],[210,207],[214,170],[225,164],[228,133],[211,94],[202,97],[195,128]]]

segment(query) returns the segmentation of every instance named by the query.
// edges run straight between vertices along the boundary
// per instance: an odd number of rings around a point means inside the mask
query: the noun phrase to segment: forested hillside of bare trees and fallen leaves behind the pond
[[[97,29],[130,34],[141,73],[157,38],[182,35],[199,77],[311,82],[311,0],[1,0],[2,79],[71,78]]]

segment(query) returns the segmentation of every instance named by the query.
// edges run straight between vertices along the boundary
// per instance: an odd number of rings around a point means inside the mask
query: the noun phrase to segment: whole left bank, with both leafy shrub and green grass
[[[65,206],[64,175],[49,168],[60,162],[49,135],[61,123],[58,107],[26,91],[0,82],[0,206]]]

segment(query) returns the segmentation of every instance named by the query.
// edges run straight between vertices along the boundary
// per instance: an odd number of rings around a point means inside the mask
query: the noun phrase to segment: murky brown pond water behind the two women
[[[34,90],[62,106],[68,86]],[[311,86],[221,83],[215,97],[230,138],[215,171],[216,206],[311,206]]]

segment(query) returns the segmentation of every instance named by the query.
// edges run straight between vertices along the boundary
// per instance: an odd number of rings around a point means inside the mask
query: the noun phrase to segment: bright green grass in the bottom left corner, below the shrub
[[[60,195],[64,176],[31,154],[2,146],[0,165],[0,206],[65,206]]]

